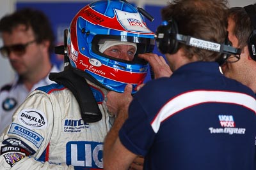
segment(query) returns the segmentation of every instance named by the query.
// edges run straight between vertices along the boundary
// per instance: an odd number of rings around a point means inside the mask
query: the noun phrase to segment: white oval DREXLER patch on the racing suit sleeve
[[[40,110],[22,110],[20,111],[18,118],[20,124],[29,129],[45,129],[45,127],[47,127],[47,119],[44,113]]]

